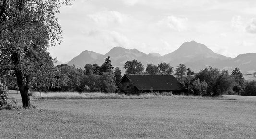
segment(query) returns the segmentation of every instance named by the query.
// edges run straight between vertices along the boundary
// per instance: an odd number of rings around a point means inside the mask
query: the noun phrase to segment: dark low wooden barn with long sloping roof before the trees
[[[173,75],[125,74],[120,82],[124,93],[180,92],[181,83]]]

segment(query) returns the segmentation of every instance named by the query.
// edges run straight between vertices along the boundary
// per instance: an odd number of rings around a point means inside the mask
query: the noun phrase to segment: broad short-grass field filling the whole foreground
[[[32,99],[36,110],[0,111],[0,138],[256,139],[256,97],[224,97]]]

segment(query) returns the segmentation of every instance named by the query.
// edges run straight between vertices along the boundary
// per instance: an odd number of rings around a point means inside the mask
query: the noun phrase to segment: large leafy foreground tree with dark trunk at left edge
[[[61,42],[56,13],[69,0],[0,0],[0,72],[13,71],[24,108],[35,76],[53,67],[47,52]]]

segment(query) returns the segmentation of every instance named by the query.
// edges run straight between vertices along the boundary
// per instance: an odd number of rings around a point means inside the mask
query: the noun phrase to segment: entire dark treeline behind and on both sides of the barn
[[[137,60],[124,64],[126,74],[174,75],[183,85],[183,93],[196,96],[220,96],[223,94],[256,96],[256,82],[245,81],[242,73],[235,68],[231,74],[227,70],[208,67],[198,73],[191,71],[184,64],[175,69],[169,63],[144,66]],[[42,92],[117,92],[121,91],[121,70],[114,68],[110,57],[99,66],[86,64],[84,68],[61,64],[53,67],[45,76],[35,76],[31,89]],[[17,89],[16,79],[12,72],[2,77],[9,89]]]

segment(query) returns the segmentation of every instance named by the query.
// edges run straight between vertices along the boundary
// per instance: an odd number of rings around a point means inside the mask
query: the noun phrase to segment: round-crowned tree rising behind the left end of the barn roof
[[[142,74],[144,67],[138,60],[126,61],[124,64],[124,69],[126,69],[126,74]]]

